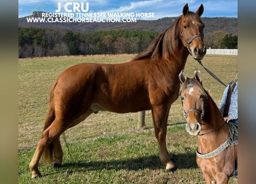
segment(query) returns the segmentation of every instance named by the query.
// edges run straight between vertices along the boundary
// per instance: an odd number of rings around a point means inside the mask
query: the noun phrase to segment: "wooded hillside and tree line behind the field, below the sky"
[[[19,18],[19,58],[139,53],[177,18],[133,23],[28,23],[26,17]],[[238,18],[203,17],[202,21],[205,47],[237,48]]]

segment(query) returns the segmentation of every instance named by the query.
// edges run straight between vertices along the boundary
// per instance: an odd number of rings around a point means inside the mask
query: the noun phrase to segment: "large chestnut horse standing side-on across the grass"
[[[203,11],[201,5],[196,13],[191,12],[186,4],[173,25],[130,62],[82,63],[60,74],[51,87],[43,133],[29,164],[32,178],[40,176],[38,164],[43,153],[54,166],[60,166],[60,135],[100,110],[128,113],[151,109],[159,157],[166,170],[174,168],[166,150],[167,117],[178,98],[178,74],[189,53],[194,59],[202,59],[206,53]]]

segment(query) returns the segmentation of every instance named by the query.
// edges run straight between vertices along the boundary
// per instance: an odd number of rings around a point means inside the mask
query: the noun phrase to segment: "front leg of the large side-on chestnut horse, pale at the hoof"
[[[159,158],[166,165],[166,170],[171,170],[175,164],[171,162],[166,148],[166,129],[170,106],[153,106],[152,116],[155,127],[155,136],[158,140]]]

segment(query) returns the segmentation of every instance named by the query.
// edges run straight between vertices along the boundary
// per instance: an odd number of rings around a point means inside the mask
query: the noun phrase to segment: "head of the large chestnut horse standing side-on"
[[[196,60],[201,60],[207,49],[204,46],[204,23],[201,21],[201,15],[204,12],[204,6],[201,5],[194,13],[189,11],[186,4],[182,11],[181,21],[179,25],[179,35],[182,44],[188,48],[190,55]]]

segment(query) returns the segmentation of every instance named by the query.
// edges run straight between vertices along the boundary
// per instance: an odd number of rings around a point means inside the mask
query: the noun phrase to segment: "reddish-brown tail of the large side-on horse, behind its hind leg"
[[[52,124],[52,122],[55,120],[55,108],[54,108],[54,90],[56,87],[57,81],[52,85],[50,94],[49,94],[49,108],[48,108],[48,114],[44,122],[44,129],[43,132]],[[54,144],[51,142],[48,145],[45,146],[43,151],[43,160],[44,163],[52,163],[54,158]]]

